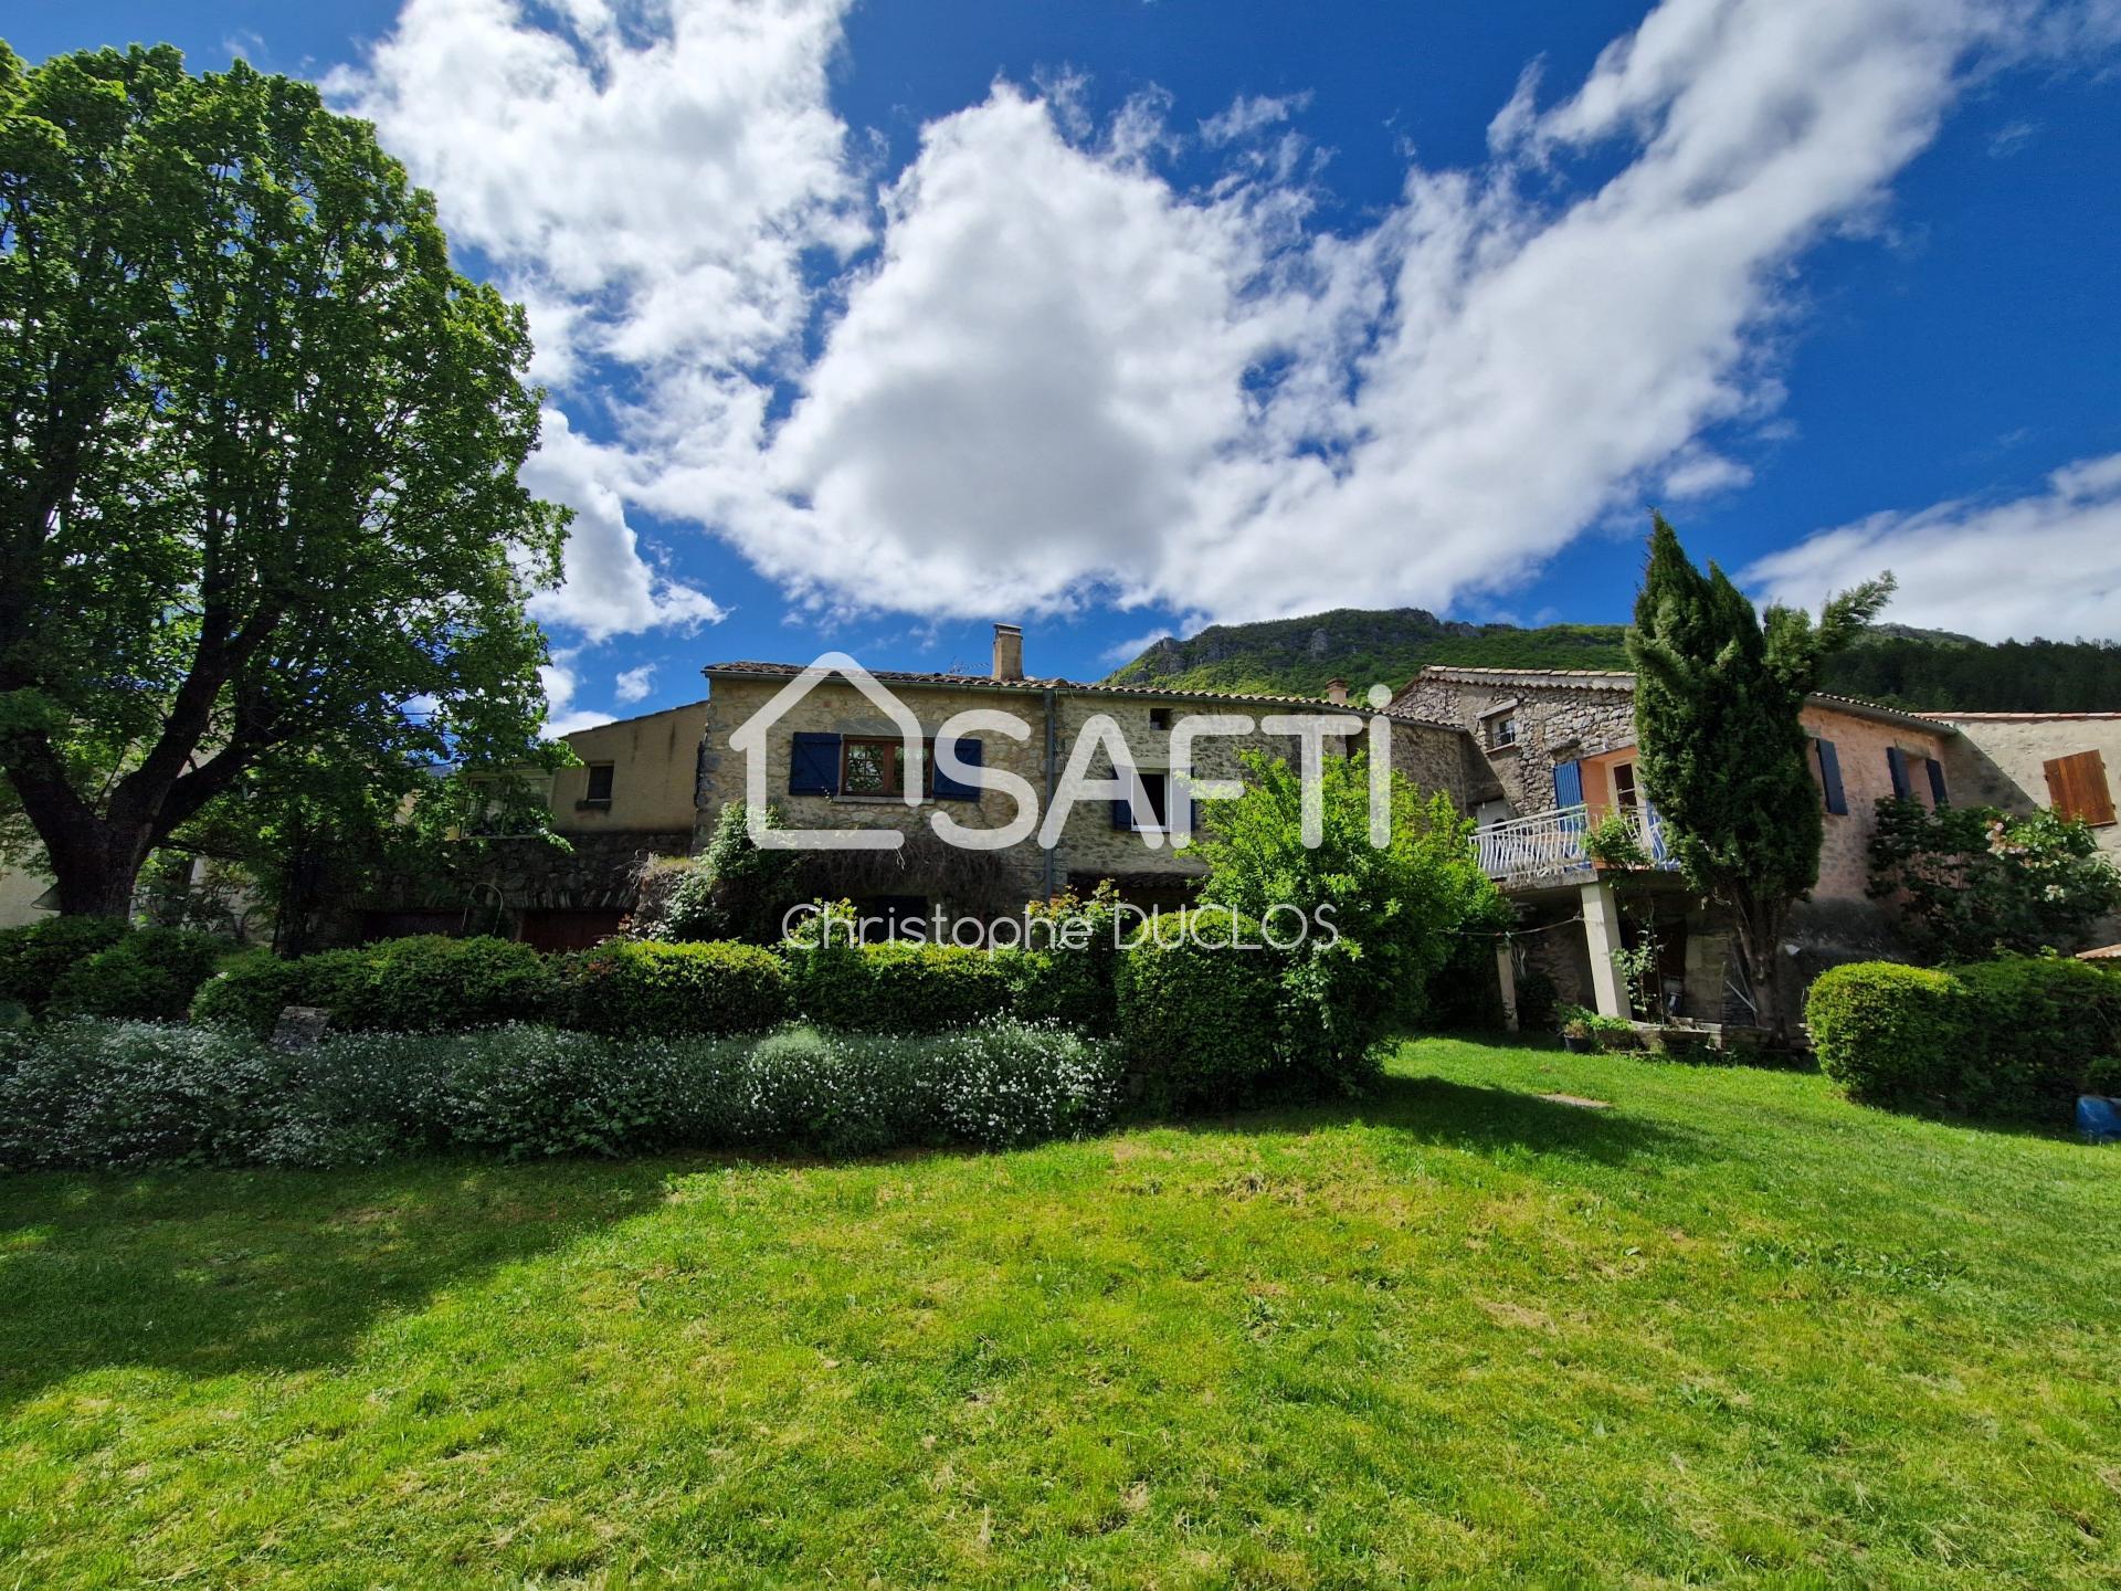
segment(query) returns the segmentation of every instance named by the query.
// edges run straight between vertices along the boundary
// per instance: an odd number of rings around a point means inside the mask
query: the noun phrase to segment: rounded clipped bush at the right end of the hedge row
[[[1120,952],[1128,1069],[1158,1105],[1247,1099],[1281,1063],[1281,978],[1258,925],[1228,908],[1171,912]]]

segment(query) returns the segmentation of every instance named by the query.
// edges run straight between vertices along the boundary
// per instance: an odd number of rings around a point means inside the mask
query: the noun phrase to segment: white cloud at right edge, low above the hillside
[[[1790,607],[1890,569],[1888,619],[1983,641],[2121,634],[2121,454],[2047,477],[2006,503],[1873,513],[1763,558],[1743,581]]]

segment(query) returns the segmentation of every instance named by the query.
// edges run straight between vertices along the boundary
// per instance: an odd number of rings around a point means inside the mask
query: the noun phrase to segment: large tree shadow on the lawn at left
[[[83,1370],[303,1370],[662,1199],[668,1162],[0,1177],[0,1406]]]

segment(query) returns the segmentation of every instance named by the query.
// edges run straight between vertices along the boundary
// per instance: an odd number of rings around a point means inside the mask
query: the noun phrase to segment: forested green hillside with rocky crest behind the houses
[[[1417,607],[1334,609],[1302,619],[1217,624],[1158,641],[1109,675],[1116,685],[1262,689],[1315,696],[1340,677],[1404,685],[1427,664],[1627,668],[1618,624],[1463,624]],[[1826,689],[1911,709],[2121,711],[2121,645],[2004,641],[1881,624],[1835,658]]]

